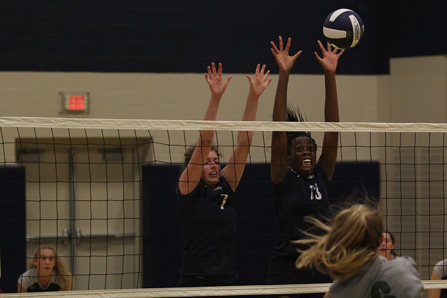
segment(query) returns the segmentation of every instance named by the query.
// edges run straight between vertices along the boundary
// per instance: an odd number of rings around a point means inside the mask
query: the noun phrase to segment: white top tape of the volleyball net
[[[0,117],[1,127],[219,131],[447,132],[447,123],[269,122]]]

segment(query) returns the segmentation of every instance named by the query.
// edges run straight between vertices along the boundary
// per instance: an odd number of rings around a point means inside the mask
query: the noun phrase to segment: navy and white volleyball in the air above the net
[[[362,19],[351,9],[341,8],[332,11],[324,20],[323,34],[337,49],[355,47],[362,39],[363,31]]]

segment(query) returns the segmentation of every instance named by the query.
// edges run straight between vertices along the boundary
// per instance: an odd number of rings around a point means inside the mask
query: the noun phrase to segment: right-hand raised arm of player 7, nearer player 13
[[[264,72],[265,65],[261,68],[261,65],[258,64],[256,66],[255,76],[253,78],[248,74],[246,75],[250,88],[248,91],[242,121],[256,120],[259,97],[261,96],[262,92],[264,92],[267,85],[272,81],[272,79],[269,79],[270,71]],[[239,185],[240,178],[244,172],[245,163],[247,161],[248,151],[252,140],[252,131],[239,131],[237,133],[236,145],[233,148],[233,152],[231,153],[227,165],[222,170],[222,175],[225,177],[226,181],[228,181],[233,191],[235,191],[237,185]]]

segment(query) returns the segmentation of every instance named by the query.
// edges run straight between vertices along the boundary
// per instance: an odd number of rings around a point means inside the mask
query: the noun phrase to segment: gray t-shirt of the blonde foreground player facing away
[[[345,282],[335,280],[329,289],[332,298],[421,298],[423,290],[416,262],[407,256],[391,261],[377,256],[365,271]]]

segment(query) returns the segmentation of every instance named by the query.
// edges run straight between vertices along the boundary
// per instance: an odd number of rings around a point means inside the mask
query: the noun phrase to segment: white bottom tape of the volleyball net
[[[447,289],[447,281],[422,281],[424,289]],[[231,287],[198,288],[153,288],[127,290],[89,290],[71,292],[52,292],[51,297],[61,298],[152,298],[152,297],[204,297],[204,296],[240,296],[240,295],[286,295],[291,293],[325,293],[331,284],[306,285],[259,285]],[[3,294],[2,298],[43,298],[47,293]]]

